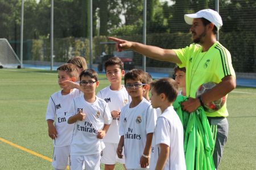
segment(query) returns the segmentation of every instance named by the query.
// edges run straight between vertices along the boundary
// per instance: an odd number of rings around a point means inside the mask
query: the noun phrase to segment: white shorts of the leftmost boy
[[[56,169],[67,168],[69,161],[70,146],[53,148],[52,166]]]

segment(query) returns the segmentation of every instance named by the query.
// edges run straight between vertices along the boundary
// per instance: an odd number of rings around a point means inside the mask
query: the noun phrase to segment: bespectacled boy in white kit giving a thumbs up
[[[76,97],[67,114],[68,124],[75,124],[71,141],[71,170],[100,169],[100,153],[105,145],[102,139],[108,131],[112,117],[106,101],[96,96],[98,75],[93,69],[80,74],[84,96]]]

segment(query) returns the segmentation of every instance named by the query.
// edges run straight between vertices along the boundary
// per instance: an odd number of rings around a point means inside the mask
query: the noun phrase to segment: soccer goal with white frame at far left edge
[[[19,68],[20,59],[6,39],[0,39],[0,68]]]

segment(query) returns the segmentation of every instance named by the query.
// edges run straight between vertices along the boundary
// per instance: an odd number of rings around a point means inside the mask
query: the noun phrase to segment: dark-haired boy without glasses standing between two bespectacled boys
[[[125,164],[125,158],[117,157],[117,146],[119,142],[119,124],[121,108],[130,103],[130,96],[126,88],[122,85],[122,76],[125,75],[123,62],[118,57],[109,58],[105,62],[106,77],[110,82],[110,86],[98,92],[97,96],[104,99],[111,111],[113,117],[112,124],[109,127],[103,139],[105,148],[102,151],[101,163],[105,164],[105,169],[114,169],[115,163]]]

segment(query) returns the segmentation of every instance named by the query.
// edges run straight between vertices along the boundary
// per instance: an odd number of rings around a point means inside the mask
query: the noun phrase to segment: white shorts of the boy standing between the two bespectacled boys
[[[123,158],[120,159],[117,156],[117,143],[105,143],[105,148],[102,151],[101,163],[107,165],[113,165],[116,163],[125,164],[125,154],[123,154]]]

